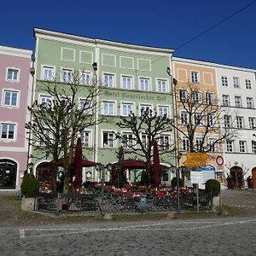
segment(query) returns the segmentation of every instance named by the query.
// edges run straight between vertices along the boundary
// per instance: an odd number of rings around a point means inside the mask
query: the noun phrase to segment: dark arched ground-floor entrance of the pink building
[[[0,189],[15,189],[17,163],[13,160],[0,160]]]

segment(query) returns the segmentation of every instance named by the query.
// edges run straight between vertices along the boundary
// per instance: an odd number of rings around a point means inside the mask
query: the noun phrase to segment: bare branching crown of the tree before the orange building
[[[183,140],[183,148],[189,152],[215,152],[218,145],[236,137],[236,131],[225,108],[219,108],[213,92],[201,94],[197,84],[176,88],[177,114],[172,127]]]

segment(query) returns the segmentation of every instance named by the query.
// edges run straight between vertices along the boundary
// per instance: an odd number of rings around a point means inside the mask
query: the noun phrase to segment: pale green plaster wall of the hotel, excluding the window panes
[[[111,148],[104,145],[103,132],[120,132],[116,122],[120,120],[119,116],[123,115],[123,103],[132,103],[133,111],[137,114],[140,113],[141,104],[148,104],[155,111],[160,106],[166,106],[169,109],[168,115],[171,117],[171,81],[166,73],[166,67],[171,66],[171,49],[119,44],[39,29],[35,30],[35,37],[37,40],[35,99],[39,99],[40,95],[44,94],[44,92],[37,90],[39,80],[43,79],[42,68],[44,66],[54,67],[57,76],[60,76],[61,68],[84,70],[90,73],[91,79],[96,79],[98,83],[103,85],[104,74],[113,75],[113,87],[104,88],[98,102],[101,106],[104,101],[113,102],[114,112],[108,116],[110,118],[108,123],[96,125],[96,129],[94,127],[88,129],[90,131],[90,145],[93,147],[96,142],[96,154],[84,149],[84,156],[88,159],[101,162],[104,165],[117,161],[116,152],[121,144],[115,140]],[[92,68],[93,62],[97,63],[96,73]],[[131,77],[133,85],[131,89],[123,89],[123,76]],[[140,78],[149,79],[149,90],[140,89]],[[165,92],[157,91],[158,79],[166,81],[167,90]],[[102,116],[102,110],[98,116]],[[96,131],[96,136],[94,131]],[[168,135],[173,138],[172,131]],[[173,154],[163,156],[160,160],[166,166],[171,166]],[[94,172],[93,177],[97,179],[98,174]]]

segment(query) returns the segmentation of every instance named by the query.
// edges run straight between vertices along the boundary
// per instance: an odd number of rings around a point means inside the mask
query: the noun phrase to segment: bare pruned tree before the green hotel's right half
[[[119,132],[116,137],[123,144],[125,154],[135,154],[145,160],[148,178],[151,175],[154,142],[159,144],[159,154],[171,153],[171,119],[147,108],[137,116],[131,112],[129,116],[121,116],[117,123],[119,128],[131,132]]]

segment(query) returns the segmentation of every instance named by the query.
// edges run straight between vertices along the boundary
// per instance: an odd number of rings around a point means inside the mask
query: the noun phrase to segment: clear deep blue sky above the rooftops
[[[33,27],[39,27],[256,69],[256,0],[13,0],[0,10],[4,46],[34,50]]]

